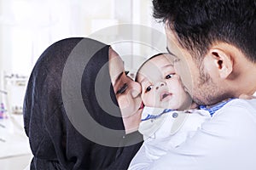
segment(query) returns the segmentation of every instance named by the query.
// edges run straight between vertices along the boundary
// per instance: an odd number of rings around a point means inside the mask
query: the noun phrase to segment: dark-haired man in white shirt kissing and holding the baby
[[[134,169],[256,169],[255,0],[153,0],[184,88],[212,114],[193,138]],[[227,99],[227,100],[225,100]],[[224,101],[224,103],[219,103]]]

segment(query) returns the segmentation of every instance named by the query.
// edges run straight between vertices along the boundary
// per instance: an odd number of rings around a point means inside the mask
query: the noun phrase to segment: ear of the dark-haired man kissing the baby
[[[214,65],[218,70],[219,77],[225,79],[233,71],[232,55],[225,48],[212,47],[208,55],[213,59]]]

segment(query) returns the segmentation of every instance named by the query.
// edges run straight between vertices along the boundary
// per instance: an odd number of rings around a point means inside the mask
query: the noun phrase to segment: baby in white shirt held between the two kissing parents
[[[168,54],[146,60],[137,71],[136,81],[141,83],[145,105],[139,126],[144,143],[131,167],[138,161],[158,159],[166,150],[178,147],[211,118],[208,111],[196,110]]]

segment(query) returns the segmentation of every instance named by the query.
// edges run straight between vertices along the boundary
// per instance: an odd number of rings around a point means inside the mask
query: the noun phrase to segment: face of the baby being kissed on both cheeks
[[[146,106],[185,110],[192,103],[166,54],[148,60],[139,71],[137,82],[142,85]]]

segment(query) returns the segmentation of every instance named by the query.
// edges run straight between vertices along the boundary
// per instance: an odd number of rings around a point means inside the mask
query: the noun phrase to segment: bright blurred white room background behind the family
[[[1,169],[22,169],[30,161],[23,132],[23,98],[32,67],[50,44],[67,37],[109,42],[112,36],[110,44],[124,59],[131,77],[144,59],[157,53],[141,42],[115,42],[114,36],[122,39],[118,29],[122,24],[147,26],[164,34],[164,26],[152,17],[151,0],[0,0]],[[109,26],[116,31],[101,36]],[[133,35],[142,36],[137,31]],[[143,39],[158,41],[150,32]]]

